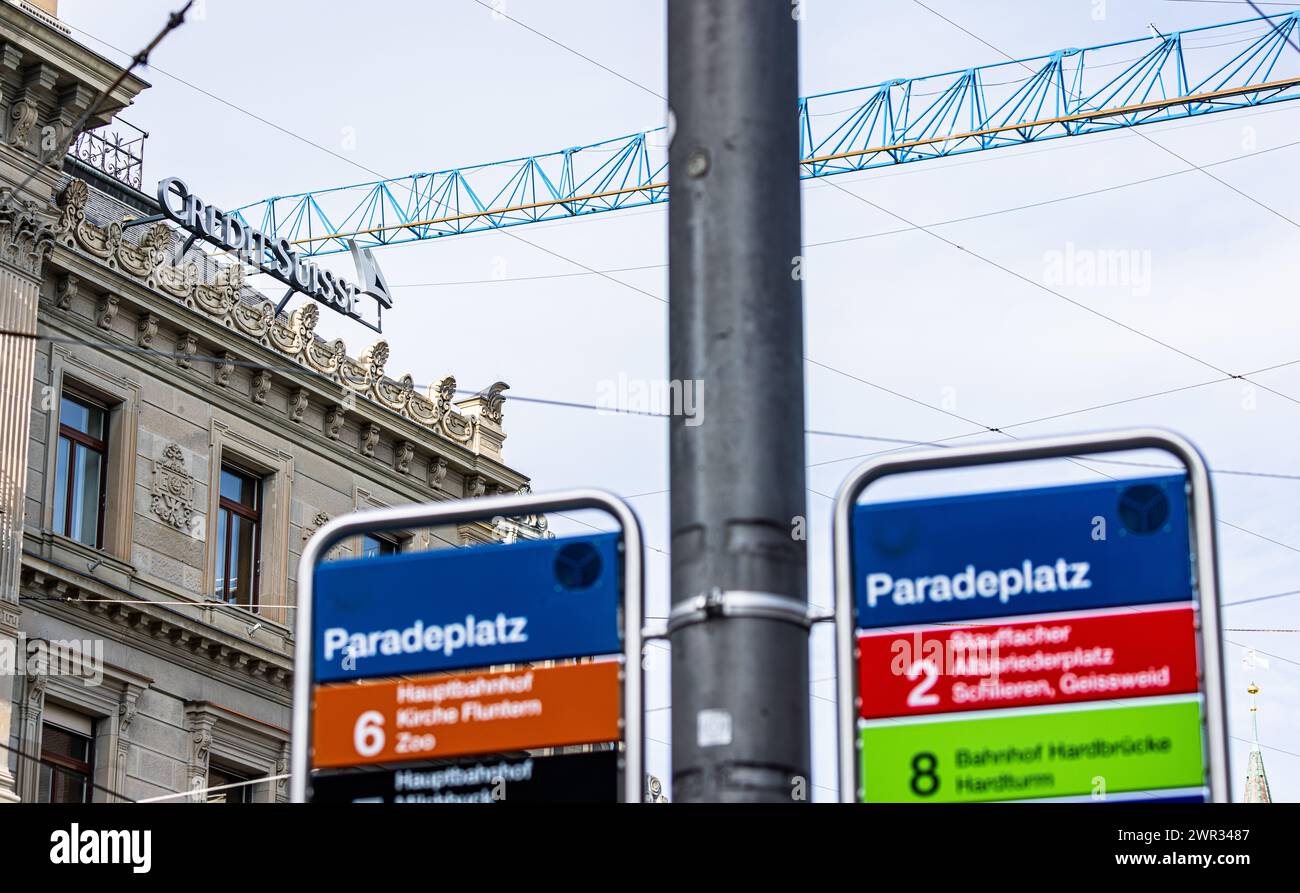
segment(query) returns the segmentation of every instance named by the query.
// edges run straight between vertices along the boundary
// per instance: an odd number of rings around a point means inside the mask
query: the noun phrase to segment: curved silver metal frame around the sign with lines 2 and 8
[[[883,477],[911,472],[970,468],[1039,459],[1066,459],[1101,452],[1162,450],[1187,469],[1190,521],[1195,550],[1193,581],[1197,593],[1201,643],[1202,692],[1205,694],[1205,742],[1208,749],[1210,799],[1227,802],[1227,718],[1223,711],[1223,642],[1218,604],[1218,562],[1214,545],[1214,500],[1209,468],[1191,442],[1171,432],[1154,428],[1102,432],[1071,437],[1019,441],[1008,445],[980,445],[950,450],[927,450],[883,456],[859,465],[840,486],[835,502],[835,659],[836,659],[836,744],[838,753],[840,802],[859,801],[857,734],[858,673],[854,640],[857,612],[853,598],[853,510],[863,491]]]

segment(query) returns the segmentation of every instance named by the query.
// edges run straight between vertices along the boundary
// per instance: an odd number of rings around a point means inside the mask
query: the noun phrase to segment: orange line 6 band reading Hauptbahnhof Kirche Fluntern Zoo
[[[619,671],[608,660],[321,685],[312,766],[618,741]]]

